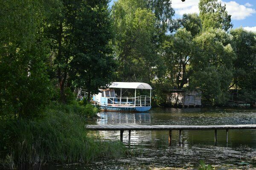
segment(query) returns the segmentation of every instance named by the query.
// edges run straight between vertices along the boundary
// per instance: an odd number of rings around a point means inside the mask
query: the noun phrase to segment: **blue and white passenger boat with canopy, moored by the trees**
[[[115,93],[120,88],[120,96]],[[122,96],[122,89],[135,89],[134,97]],[[150,90],[150,96],[136,96],[137,89]],[[99,89],[93,101],[101,111],[146,112],[151,109],[151,86],[143,82],[112,82],[108,89]]]

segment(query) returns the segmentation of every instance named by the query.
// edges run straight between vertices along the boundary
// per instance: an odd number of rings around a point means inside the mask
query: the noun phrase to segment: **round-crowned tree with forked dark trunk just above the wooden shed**
[[[181,89],[187,83],[189,74],[187,65],[195,51],[193,37],[186,28],[179,28],[176,34],[169,36],[163,43],[163,57],[168,68],[168,75],[175,79],[175,85]]]

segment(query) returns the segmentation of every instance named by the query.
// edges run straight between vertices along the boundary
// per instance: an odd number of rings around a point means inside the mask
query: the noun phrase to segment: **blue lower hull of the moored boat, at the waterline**
[[[136,107],[115,107],[115,106],[100,106],[101,111],[118,111],[118,112],[145,112],[151,109],[151,106],[136,106]]]

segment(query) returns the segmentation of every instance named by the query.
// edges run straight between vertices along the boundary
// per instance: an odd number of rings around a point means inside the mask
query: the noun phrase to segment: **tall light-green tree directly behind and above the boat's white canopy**
[[[154,13],[146,3],[119,0],[112,8],[117,76],[121,81],[150,82],[157,72],[157,28]]]

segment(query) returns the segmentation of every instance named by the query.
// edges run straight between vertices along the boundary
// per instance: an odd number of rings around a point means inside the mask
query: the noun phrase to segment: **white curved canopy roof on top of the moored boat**
[[[144,82],[111,82],[109,88],[152,89],[148,83]]]

